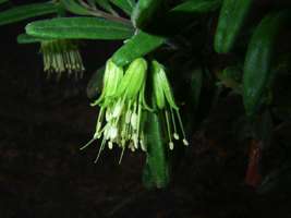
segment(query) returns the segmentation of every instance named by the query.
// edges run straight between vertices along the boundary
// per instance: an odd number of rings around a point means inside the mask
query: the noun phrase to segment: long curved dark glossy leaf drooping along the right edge
[[[264,94],[270,86],[276,38],[284,24],[288,24],[290,11],[266,15],[256,27],[247,47],[243,74],[243,101],[246,113],[252,117],[263,104]],[[290,19],[290,17],[289,17]]]

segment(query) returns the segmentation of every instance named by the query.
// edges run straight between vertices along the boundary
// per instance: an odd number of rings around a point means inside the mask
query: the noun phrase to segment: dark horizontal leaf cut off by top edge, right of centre
[[[170,12],[205,13],[217,10],[220,3],[221,0],[189,0],[177,5]]]

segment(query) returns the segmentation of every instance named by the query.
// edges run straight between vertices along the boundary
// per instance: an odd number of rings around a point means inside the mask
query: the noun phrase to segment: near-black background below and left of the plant
[[[228,131],[243,113],[235,97],[193,133],[166,190],[143,187],[143,154],[128,153],[119,166],[119,150],[105,152],[94,165],[97,143],[78,150],[97,118],[86,84],[120,44],[85,43],[85,77],[57,83],[46,80],[37,45],[16,44],[25,23],[0,28],[1,218],[291,217],[288,193],[259,195],[244,183],[247,149]]]

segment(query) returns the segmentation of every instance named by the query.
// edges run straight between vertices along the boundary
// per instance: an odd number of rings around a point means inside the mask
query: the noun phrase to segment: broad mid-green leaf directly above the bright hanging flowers
[[[144,57],[148,52],[161,46],[165,38],[146,34],[142,31],[126,41],[120,49],[118,49],[112,61],[119,66],[123,66],[132,62],[134,59]]]

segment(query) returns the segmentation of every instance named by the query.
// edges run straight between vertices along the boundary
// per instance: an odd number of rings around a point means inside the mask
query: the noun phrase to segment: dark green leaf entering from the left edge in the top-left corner
[[[56,13],[57,11],[58,5],[51,2],[25,4],[0,12],[0,25]]]

